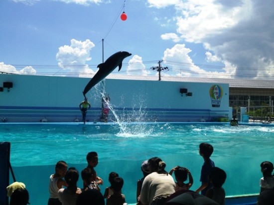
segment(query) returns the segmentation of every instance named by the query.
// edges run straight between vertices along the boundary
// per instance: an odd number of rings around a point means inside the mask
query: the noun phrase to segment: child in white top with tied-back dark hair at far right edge
[[[274,167],[271,162],[265,161],[261,163],[261,171],[263,173],[263,177],[260,179],[261,192],[266,189],[274,188],[273,169]]]

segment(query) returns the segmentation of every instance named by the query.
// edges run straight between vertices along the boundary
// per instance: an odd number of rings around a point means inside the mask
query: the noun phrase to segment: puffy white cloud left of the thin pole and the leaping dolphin
[[[88,39],[83,42],[72,39],[70,43],[70,45],[59,47],[59,51],[56,54],[58,66],[75,74],[94,73],[86,63],[92,59],[90,51],[95,46],[94,43]]]

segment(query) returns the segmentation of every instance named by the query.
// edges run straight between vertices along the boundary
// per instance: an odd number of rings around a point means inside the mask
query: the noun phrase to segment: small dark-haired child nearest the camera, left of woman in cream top
[[[121,194],[123,185],[124,180],[121,177],[114,178],[111,182],[113,195],[108,197],[107,205],[123,205],[126,203],[125,195]]]

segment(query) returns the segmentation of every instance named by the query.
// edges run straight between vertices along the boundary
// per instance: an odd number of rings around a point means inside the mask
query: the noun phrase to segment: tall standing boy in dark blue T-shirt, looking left
[[[199,145],[199,154],[203,157],[204,164],[201,169],[201,186],[196,190],[196,192],[201,192],[202,195],[206,195],[207,190],[212,187],[212,184],[208,179],[210,170],[212,167],[215,167],[214,162],[210,159],[212,153],[213,146],[211,144],[203,142]]]

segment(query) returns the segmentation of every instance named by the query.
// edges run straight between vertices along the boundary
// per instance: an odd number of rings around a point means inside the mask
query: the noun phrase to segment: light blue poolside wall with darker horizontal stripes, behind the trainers
[[[79,104],[89,78],[25,76],[0,74],[10,89],[0,92],[0,117],[7,121],[74,121],[82,118]],[[222,88],[220,106],[212,106],[209,91]],[[188,93],[180,94],[180,89]],[[9,92],[8,92],[9,91]],[[122,120],[131,121],[206,121],[230,116],[229,85],[145,80],[105,79],[87,93],[92,108],[89,121],[100,120],[102,93],[109,94],[114,112]],[[116,120],[113,112],[112,120]]]

